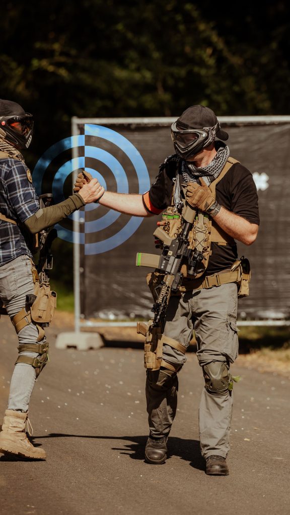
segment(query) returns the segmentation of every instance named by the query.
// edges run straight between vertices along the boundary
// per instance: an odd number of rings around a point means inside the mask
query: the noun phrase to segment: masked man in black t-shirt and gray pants
[[[163,213],[154,232],[162,255],[168,252],[163,263],[174,254],[172,242],[182,241],[185,227],[190,227],[186,248],[195,259],[182,264],[182,280],[174,295],[168,296],[162,323],[154,319],[139,323],[138,328],[146,336],[149,438],[145,459],[150,464],[166,460],[177,406],[178,373],[195,331],[205,381],[199,408],[201,453],[207,474],[228,475],[233,404],[229,369],[238,355],[237,299],[248,295],[250,279],[249,262],[238,259],[235,240],[251,245],[256,239],[260,223],[257,192],[250,171],[230,156],[223,143],[228,134],[221,130],[211,109],[186,109],[172,124],[171,136],[176,153],[160,165],[148,192],[105,192],[100,204],[135,216]],[[79,175],[74,191],[85,182]],[[188,212],[192,223],[186,225]],[[159,261],[159,269],[149,274],[153,296],[160,291],[158,286],[166,286],[163,270]]]

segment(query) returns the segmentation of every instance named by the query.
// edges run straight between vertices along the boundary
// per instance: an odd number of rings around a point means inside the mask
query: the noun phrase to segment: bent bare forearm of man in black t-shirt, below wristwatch
[[[214,217],[214,220],[227,234],[245,245],[251,245],[257,237],[259,226],[251,224],[246,218],[238,216],[223,207]]]

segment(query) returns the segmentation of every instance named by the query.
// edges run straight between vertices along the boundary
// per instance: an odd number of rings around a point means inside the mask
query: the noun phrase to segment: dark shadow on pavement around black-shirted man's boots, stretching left
[[[132,459],[144,461],[144,448],[148,436],[99,436],[99,435],[68,435],[65,433],[50,433],[49,435],[36,436],[36,440],[41,438],[94,438],[103,440],[125,440],[132,443],[124,444],[123,447],[112,447],[114,451],[126,454]],[[197,470],[205,470],[205,462],[200,454],[199,440],[186,440],[184,438],[169,437],[168,439],[168,459],[178,456],[190,462],[190,466]]]

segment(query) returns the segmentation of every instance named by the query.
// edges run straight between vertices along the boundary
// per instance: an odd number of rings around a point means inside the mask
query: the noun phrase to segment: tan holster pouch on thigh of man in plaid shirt
[[[49,283],[41,283],[30,308],[31,319],[38,323],[50,323],[56,308],[56,297],[56,292],[51,290]]]

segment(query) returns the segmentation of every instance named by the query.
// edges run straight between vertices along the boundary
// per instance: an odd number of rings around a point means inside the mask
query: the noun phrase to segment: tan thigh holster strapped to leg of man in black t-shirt
[[[159,370],[160,367],[167,368],[177,372],[182,365],[173,365],[162,359],[163,344],[170,345],[185,354],[185,347],[179,341],[165,336],[160,327],[152,327],[153,320],[145,322],[137,322],[137,333],[146,336],[144,342],[144,367],[150,370]]]

